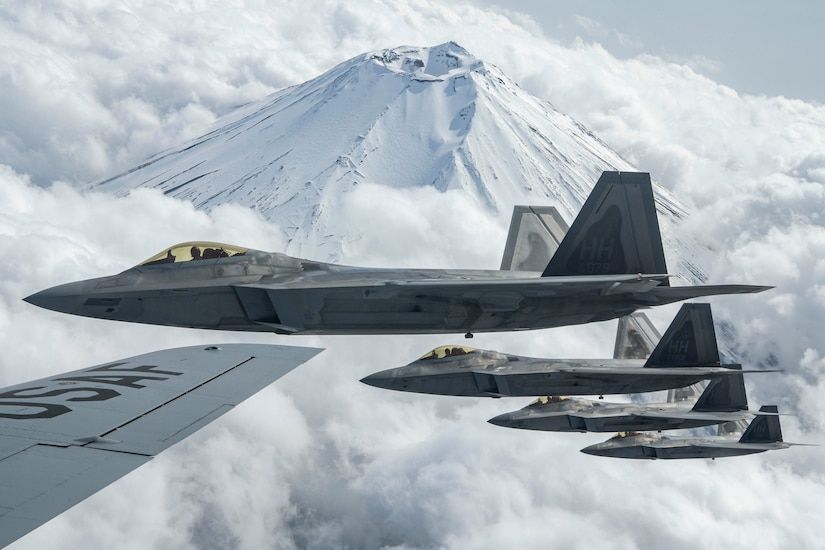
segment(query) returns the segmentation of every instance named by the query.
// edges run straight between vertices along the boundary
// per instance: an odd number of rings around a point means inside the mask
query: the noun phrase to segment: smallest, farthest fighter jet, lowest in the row
[[[765,405],[739,438],[735,435],[669,437],[654,433],[620,432],[604,443],[590,445],[581,451],[615,458],[716,458],[787,449],[791,445],[800,444],[782,441],[778,409],[775,405]]]

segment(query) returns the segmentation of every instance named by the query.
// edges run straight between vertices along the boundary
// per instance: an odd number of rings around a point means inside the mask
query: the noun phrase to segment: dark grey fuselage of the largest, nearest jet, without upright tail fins
[[[26,298],[117,321],[283,334],[526,330],[619,317],[646,307],[762,287],[669,287],[663,276],[538,277],[495,270],[349,267],[247,250],[139,265]],[[692,291],[692,293],[691,293]]]

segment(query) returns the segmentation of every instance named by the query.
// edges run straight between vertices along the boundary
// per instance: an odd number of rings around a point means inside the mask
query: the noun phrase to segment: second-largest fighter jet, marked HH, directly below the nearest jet
[[[361,381],[379,388],[473,397],[605,395],[680,388],[739,376],[719,363],[708,304],[684,304],[647,359],[539,359],[441,346]],[[767,371],[758,371],[767,372]]]

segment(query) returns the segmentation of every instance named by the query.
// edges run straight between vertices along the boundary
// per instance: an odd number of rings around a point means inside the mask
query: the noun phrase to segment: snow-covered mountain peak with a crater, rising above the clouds
[[[91,188],[246,205],[280,224],[287,252],[312,242],[314,259],[335,260],[341,239],[329,236],[347,226],[339,206],[359,184],[460,189],[501,223],[515,204],[549,204],[569,222],[604,170],[638,168],[450,42],[357,56]],[[671,270],[701,280],[701,247],[674,231],[685,208],[656,192]]]

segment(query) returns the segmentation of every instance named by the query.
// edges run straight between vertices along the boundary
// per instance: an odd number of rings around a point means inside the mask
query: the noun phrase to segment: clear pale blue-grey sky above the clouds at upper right
[[[825,102],[825,76],[814,69],[825,47],[825,6],[815,0],[477,4],[528,14],[564,43],[592,41],[620,59],[648,54],[687,65],[742,94]]]

